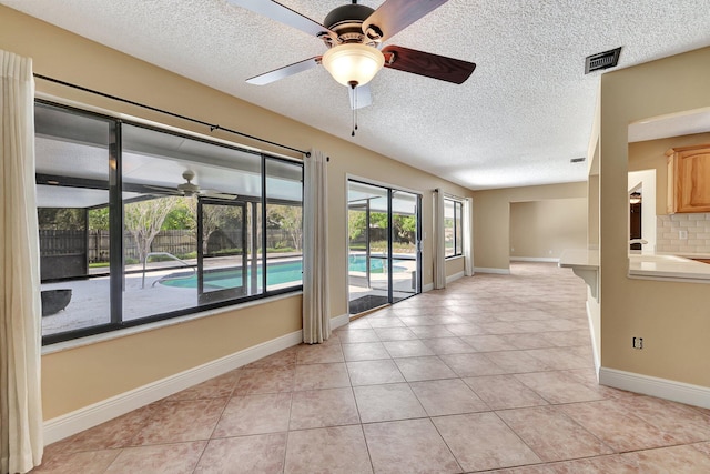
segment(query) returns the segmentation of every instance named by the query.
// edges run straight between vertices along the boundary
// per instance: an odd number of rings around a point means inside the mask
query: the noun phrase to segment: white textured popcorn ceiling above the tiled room
[[[346,2],[280,1],[320,22]],[[383,70],[352,138],[324,69],[244,82],[324,47],[226,0],[0,3],[470,189],[586,180],[569,160],[586,155],[601,72],[585,75],[585,57],[621,46],[619,69],[710,44],[710,0],[449,0],[387,44],[473,61],[471,78]]]

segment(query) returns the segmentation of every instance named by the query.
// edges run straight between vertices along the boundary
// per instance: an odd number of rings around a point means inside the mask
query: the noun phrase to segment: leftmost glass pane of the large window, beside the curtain
[[[38,105],[42,334],[111,322],[106,120]]]

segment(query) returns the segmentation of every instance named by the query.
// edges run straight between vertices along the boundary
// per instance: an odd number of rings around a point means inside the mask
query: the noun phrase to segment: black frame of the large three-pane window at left
[[[77,107],[72,107],[72,105],[67,105],[63,103],[59,103],[59,102],[54,102],[54,101],[50,101],[50,100],[45,100],[45,99],[36,99],[34,100],[34,107],[48,107],[48,108],[52,108],[52,109],[59,109],[61,111],[64,111],[67,113],[71,113],[71,114],[78,114],[80,117],[88,117],[88,118],[93,118],[93,119],[98,119],[98,120],[102,120],[102,121],[106,121],[109,122],[109,130],[110,130],[110,140],[109,140],[109,149],[108,149],[108,154],[106,154],[106,167],[110,169],[110,174],[109,174],[109,184],[108,184],[108,193],[109,193],[109,203],[108,203],[108,208],[109,208],[109,219],[110,219],[110,230],[109,230],[109,235],[110,235],[110,265],[109,265],[109,278],[110,278],[110,290],[109,290],[109,307],[110,307],[110,314],[108,314],[108,319],[109,322],[106,323],[100,323],[100,324],[94,324],[91,326],[87,326],[87,327],[79,327],[79,329],[72,329],[72,330],[68,330],[68,331],[63,331],[63,332],[57,332],[57,333],[52,333],[52,334],[42,334],[42,345],[43,346],[48,346],[51,344],[55,344],[55,343],[60,343],[60,342],[67,342],[67,341],[72,341],[72,340],[78,340],[81,337],[87,337],[87,336],[93,336],[93,335],[98,335],[98,334],[103,334],[103,333],[110,333],[110,332],[114,332],[114,331],[120,331],[120,330],[125,330],[125,329],[130,329],[130,327],[136,327],[136,326],[142,326],[142,325],[146,325],[146,324],[152,324],[152,323],[156,323],[160,321],[165,321],[165,320],[172,320],[172,319],[176,319],[176,317],[181,317],[181,316],[187,316],[187,315],[197,315],[200,313],[207,313],[207,312],[212,312],[214,310],[217,309],[226,309],[226,307],[234,307],[234,309],[239,309],[240,305],[243,305],[245,303],[254,303],[258,300],[265,300],[265,299],[270,299],[273,296],[280,296],[280,295],[284,295],[284,294],[288,294],[288,293],[298,293],[301,291],[303,291],[303,282],[298,282],[298,284],[295,285],[291,285],[291,286],[286,286],[286,288],[278,288],[278,289],[268,289],[268,286],[265,284],[266,281],[266,271],[262,272],[262,276],[264,280],[264,284],[263,286],[260,289],[260,293],[257,294],[247,294],[247,295],[241,295],[237,297],[233,297],[233,299],[229,299],[229,300],[224,300],[224,301],[217,301],[217,302],[211,302],[211,303],[206,303],[206,304],[196,304],[194,306],[190,306],[190,307],[184,307],[181,310],[176,310],[176,311],[169,311],[169,312],[164,312],[164,313],[158,313],[158,314],[152,314],[152,315],[148,315],[148,316],[142,316],[139,319],[133,319],[133,320],[124,320],[123,317],[125,316],[124,312],[123,312],[123,290],[121,286],[122,280],[124,278],[124,275],[128,273],[124,266],[124,262],[123,262],[123,252],[124,252],[124,226],[123,226],[123,202],[122,202],[122,192],[123,186],[122,186],[122,140],[121,140],[121,131],[122,131],[122,125],[123,124],[128,124],[128,125],[133,125],[133,127],[139,127],[142,129],[148,129],[148,130],[152,130],[155,132],[160,132],[160,133],[168,133],[168,134],[172,134],[172,135],[176,135],[183,139],[187,139],[187,140],[195,140],[195,141],[200,141],[210,145],[215,145],[215,147],[221,147],[221,148],[226,148],[230,150],[234,150],[234,151],[239,151],[242,153],[250,153],[250,154],[254,154],[260,157],[260,162],[261,162],[261,182],[262,182],[262,188],[261,188],[261,196],[258,198],[258,203],[261,203],[261,225],[258,226],[258,232],[261,232],[261,235],[263,236],[263,240],[265,242],[265,235],[266,235],[266,219],[265,219],[265,214],[266,214],[266,206],[270,203],[274,203],[277,202],[278,200],[274,201],[273,199],[268,198],[268,193],[267,193],[267,188],[266,188],[266,178],[267,178],[267,163],[272,162],[272,161],[276,161],[276,162],[284,162],[284,163],[288,163],[293,167],[300,168],[301,170],[301,202],[300,202],[300,208],[303,210],[304,208],[304,202],[303,202],[303,198],[304,198],[304,164],[302,160],[297,160],[297,159],[288,159],[285,157],[280,157],[280,155],[275,155],[275,154],[270,154],[270,153],[265,153],[262,151],[256,151],[253,149],[246,149],[243,147],[240,147],[239,144],[235,143],[229,143],[225,142],[223,140],[210,140],[209,138],[204,138],[204,137],[200,137],[196,134],[193,134],[193,132],[190,132],[187,130],[176,130],[170,125],[163,125],[161,127],[160,124],[146,124],[143,123],[139,120],[131,120],[131,119],[124,119],[124,118],[119,118],[119,117],[113,117],[106,113],[99,113],[95,111],[91,111],[91,110],[85,110],[85,109],[81,109],[81,108],[77,108]],[[40,175],[40,173],[37,173],[36,171],[36,175]],[[43,184],[40,183],[39,181],[37,181],[37,185],[39,184]],[[295,201],[294,201],[295,202]],[[40,208],[38,208],[40,209]],[[121,210],[120,212],[116,212],[116,209]],[[87,223],[87,229],[88,229],[88,223]],[[303,224],[302,224],[303,225]],[[303,258],[303,253],[301,253],[301,258]],[[267,262],[267,255],[265,252],[265,248],[263,251],[263,254],[260,255],[258,258],[260,263],[263,264],[264,266],[266,266],[266,262]],[[119,269],[119,270],[116,270]],[[89,275],[87,275],[87,278],[89,278]],[[59,281],[70,281],[71,279],[58,279],[58,280],[49,280],[48,282],[59,282]],[[44,281],[42,282],[44,283]],[[38,289],[38,290],[41,290]]]

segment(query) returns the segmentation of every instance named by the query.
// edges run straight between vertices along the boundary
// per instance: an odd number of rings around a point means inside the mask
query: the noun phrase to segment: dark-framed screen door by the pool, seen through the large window
[[[246,294],[246,204],[197,198],[197,302]]]

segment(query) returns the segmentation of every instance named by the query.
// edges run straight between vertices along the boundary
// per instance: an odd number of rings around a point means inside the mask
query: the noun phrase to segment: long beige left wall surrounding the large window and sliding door
[[[34,72],[150,104],[209,123],[284,143],[316,148],[328,165],[328,233],[332,316],[347,312],[346,174],[423,193],[423,225],[432,229],[432,190],[470,192],[398,161],[367,151],[219,91],[139,61],[0,6],[0,48],[34,61]],[[210,134],[205,127],[171,119],[65,87],[37,81],[38,93]],[[344,135],[347,135],[344,131]],[[283,153],[258,142],[216,131],[213,137]],[[403,159],[406,157],[402,157]],[[432,239],[424,242],[423,283],[432,283]],[[456,265],[453,265],[456,266]],[[455,272],[455,268],[448,269]],[[94,343],[42,357],[44,416],[52,418],[190,367],[298,331],[301,296]]]

